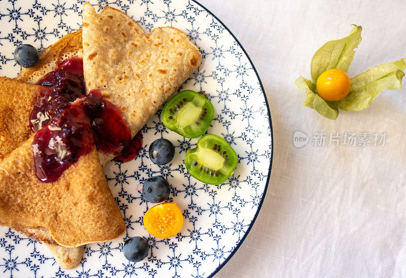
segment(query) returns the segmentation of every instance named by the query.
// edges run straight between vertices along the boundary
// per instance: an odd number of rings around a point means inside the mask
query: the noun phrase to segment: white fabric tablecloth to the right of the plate
[[[406,57],[406,2],[201,0],[252,58],[268,98],[274,163],[259,217],[216,277],[406,276],[406,89],[328,120],[302,106],[325,42],[362,25],[349,76]],[[406,85],[406,78],[403,79]],[[293,146],[296,130],[310,136]],[[313,147],[314,132],[386,132],[384,147]],[[342,143],[342,142],[341,142]]]

